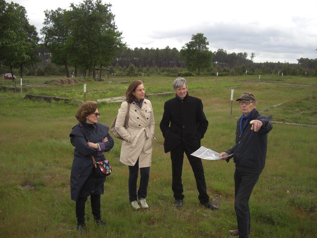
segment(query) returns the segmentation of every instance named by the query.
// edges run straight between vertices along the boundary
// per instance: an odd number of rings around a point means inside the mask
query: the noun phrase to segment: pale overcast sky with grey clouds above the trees
[[[8,0],[6,0],[8,2]],[[71,0],[16,0],[39,32],[43,11],[68,9]],[[317,1],[109,0],[128,47],[178,50],[191,35],[204,33],[209,49],[254,52],[254,62],[317,58]],[[248,56],[248,57],[249,57]]]

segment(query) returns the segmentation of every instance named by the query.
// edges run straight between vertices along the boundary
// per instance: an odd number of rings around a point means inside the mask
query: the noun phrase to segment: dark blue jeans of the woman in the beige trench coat
[[[146,198],[147,185],[150,178],[150,167],[140,168],[140,186],[137,196],[137,181],[139,175],[139,159],[134,166],[129,166],[129,199],[130,202],[137,200],[137,198]]]

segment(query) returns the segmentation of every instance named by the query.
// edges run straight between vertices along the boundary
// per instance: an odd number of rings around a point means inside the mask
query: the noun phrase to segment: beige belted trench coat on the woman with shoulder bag
[[[139,158],[139,168],[150,167],[152,157],[152,142],[154,137],[154,116],[152,104],[144,99],[142,108],[135,102],[130,103],[129,122],[124,128],[124,120],[128,109],[128,103],[122,102],[118,111],[115,128],[122,141],[120,162],[134,166]]]

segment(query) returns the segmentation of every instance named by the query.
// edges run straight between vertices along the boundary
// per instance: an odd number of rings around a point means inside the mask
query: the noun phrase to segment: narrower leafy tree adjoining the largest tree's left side
[[[68,49],[66,47],[69,35],[69,23],[65,9],[45,10],[45,19],[41,34],[44,35],[42,41],[45,47],[52,53],[51,61],[56,65],[65,66],[66,75],[68,71]]]

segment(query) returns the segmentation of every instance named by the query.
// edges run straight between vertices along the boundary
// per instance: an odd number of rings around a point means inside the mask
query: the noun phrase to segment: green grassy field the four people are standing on
[[[130,82],[135,78],[117,78]],[[147,93],[171,91],[174,78],[145,78]],[[317,78],[305,77],[188,77],[190,92],[204,103],[209,127],[202,145],[218,152],[233,146],[235,123],[240,116],[234,98],[245,91],[258,99],[257,109],[285,103],[263,112],[273,121],[317,124]],[[44,80],[44,79],[43,79]],[[87,99],[122,96],[128,83],[87,84]],[[95,90],[93,90],[95,89]],[[48,86],[25,93],[82,99],[82,83]],[[67,93],[69,91],[69,93]],[[74,91],[74,92],[72,92]],[[219,211],[198,205],[198,193],[189,162],[184,160],[184,205],[176,209],[171,191],[170,154],[163,150],[159,122],[164,102],[172,96],[149,97],[156,121],[157,140],[148,187],[147,210],[135,211],[128,201],[128,168],[122,165],[121,141],[107,155],[113,173],[101,196],[107,228],[94,225],[86,206],[87,234],[76,227],[75,203],[70,200],[69,175],[73,147],[69,133],[76,124],[77,105],[64,102],[20,100],[19,93],[0,92],[0,237],[231,237],[234,212],[234,163],[203,161],[207,190]],[[303,98],[304,97],[304,98]],[[110,125],[120,103],[99,103],[100,122]],[[251,237],[316,237],[317,234],[317,128],[274,124],[268,136],[266,166],[251,195]]]

